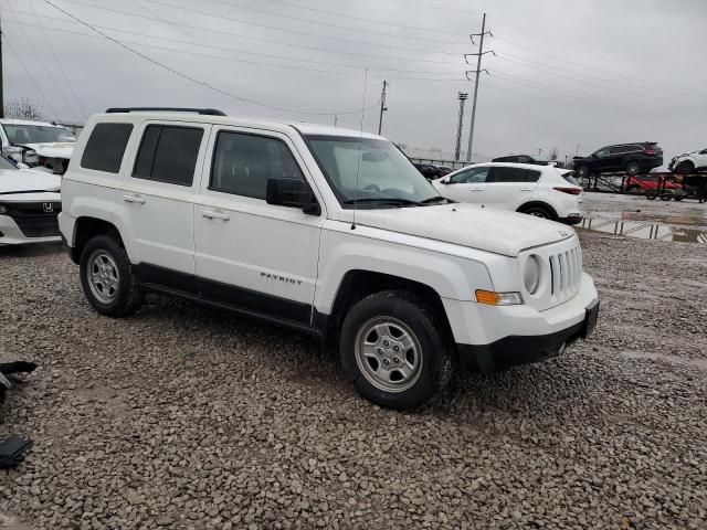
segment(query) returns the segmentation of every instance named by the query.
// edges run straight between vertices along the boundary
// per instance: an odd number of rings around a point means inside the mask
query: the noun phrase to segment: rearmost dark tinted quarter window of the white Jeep
[[[131,124],[96,124],[81,157],[81,167],[107,173],[120,172],[130,132]]]

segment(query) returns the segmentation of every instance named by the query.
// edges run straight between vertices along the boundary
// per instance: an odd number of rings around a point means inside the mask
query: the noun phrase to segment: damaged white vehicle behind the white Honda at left
[[[24,119],[0,119],[2,155],[18,163],[53,174],[64,174],[76,136],[59,125]]]

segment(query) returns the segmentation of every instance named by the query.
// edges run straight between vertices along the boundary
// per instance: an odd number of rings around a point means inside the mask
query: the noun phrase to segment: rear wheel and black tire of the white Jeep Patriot
[[[117,272],[113,275],[117,280],[112,280],[114,284],[110,292],[105,287],[105,284],[99,288],[88,279],[89,272],[96,272],[99,268],[98,259],[103,259],[109,269]],[[137,276],[133,273],[128,255],[114,237],[97,235],[89,240],[81,253],[80,272],[84,294],[93,308],[101,315],[115,318],[125,317],[137,311],[145,299]],[[106,277],[108,276],[110,273],[106,274]],[[99,293],[102,289],[105,290],[103,299]]]

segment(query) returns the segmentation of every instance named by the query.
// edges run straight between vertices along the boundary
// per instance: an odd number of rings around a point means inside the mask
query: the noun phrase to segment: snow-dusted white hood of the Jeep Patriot
[[[563,224],[474,204],[358,210],[356,224],[517,256],[574,235]]]

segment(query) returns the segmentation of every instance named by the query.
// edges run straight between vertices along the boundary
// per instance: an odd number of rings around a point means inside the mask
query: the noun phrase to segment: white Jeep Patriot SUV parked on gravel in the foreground
[[[93,116],[60,227],[88,301],[178,295],[337,341],[370,401],[414,409],[456,361],[562,353],[599,303],[571,227],[440,197],[389,140],[212,109]]]

